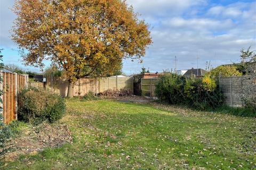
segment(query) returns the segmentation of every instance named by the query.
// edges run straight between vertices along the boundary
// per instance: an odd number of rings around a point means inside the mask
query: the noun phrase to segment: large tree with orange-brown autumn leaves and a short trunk
[[[23,61],[64,70],[68,97],[77,79],[113,73],[124,58],[142,61],[152,43],[149,25],[124,0],[17,0],[13,11]]]

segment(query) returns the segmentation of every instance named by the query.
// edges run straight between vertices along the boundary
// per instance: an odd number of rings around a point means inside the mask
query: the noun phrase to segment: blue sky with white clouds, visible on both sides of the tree
[[[0,1],[0,48],[4,63],[22,65],[18,47],[10,39],[9,30],[15,15],[13,0]],[[205,68],[239,62],[241,48],[256,50],[256,1],[207,0],[127,0],[151,27],[154,44],[147,49],[143,63],[124,61],[126,74],[138,73],[141,67],[152,72],[178,68]],[[50,62],[46,62],[46,65]],[[25,66],[23,66],[25,67]],[[29,70],[39,71],[33,67]]]

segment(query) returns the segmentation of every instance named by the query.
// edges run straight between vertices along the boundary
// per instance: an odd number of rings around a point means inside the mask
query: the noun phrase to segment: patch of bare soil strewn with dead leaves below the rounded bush
[[[29,126],[11,141],[14,152],[6,155],[6,160],[15,160],[22,154],[37,154],[45,148],[57,148],[72,143],[73,138],[66,124],[43,123]]]

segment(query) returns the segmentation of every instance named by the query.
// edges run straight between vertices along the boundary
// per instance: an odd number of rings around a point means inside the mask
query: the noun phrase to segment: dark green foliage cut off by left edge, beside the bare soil
[[[12,131],[9,126],[3,124],[3,116],[0,114],[0,160],[2,160],[7,152],[11,150],[9,144],[12,137]]]

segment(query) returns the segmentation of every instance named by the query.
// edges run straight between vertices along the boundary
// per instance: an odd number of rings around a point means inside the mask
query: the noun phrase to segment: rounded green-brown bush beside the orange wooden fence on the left
[[[21,120],[42,123],[53,123],[60,120],[66,112],[63,98],[43,89],[24,89],[19,94],[18,114]]]

